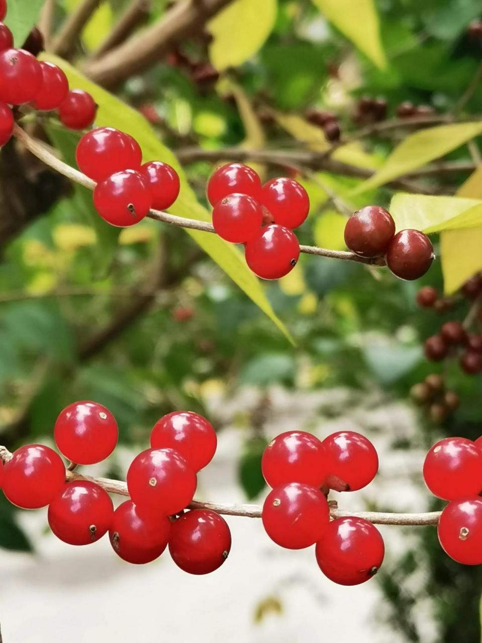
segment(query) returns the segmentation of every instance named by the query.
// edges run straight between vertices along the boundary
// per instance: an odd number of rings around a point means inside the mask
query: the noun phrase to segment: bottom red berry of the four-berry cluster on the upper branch
[[[299,242],[283,226],[266,226],[259,237],[246,244],[245,259],[253,273],[262,279],[280,279],[296,266]]]

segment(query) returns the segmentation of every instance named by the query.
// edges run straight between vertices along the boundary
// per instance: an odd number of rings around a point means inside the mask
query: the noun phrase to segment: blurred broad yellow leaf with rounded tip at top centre
[[[278,0],[235,0],[209,23],[209,54],[222,71],[249,60],[263,46],[276,21]]]

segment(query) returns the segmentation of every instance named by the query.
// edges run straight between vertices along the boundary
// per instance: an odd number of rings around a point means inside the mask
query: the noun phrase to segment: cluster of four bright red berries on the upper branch
[[[308,216],[310,199],[287,177],[261,184],[242,163],[217,168],[208,183],[213,227],[222,239],[244,244],[249,268],[263,279],[279,279],[296,266],[299,242],[293,233]]]

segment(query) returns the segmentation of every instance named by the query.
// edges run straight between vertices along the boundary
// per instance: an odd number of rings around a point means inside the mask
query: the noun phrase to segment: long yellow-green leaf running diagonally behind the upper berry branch
[[[175,168],[181,179],[181,192],[179,198],[169,211],[180,217],[198,219],[199,221],[210,221],[211,216],[204,208],[188,184],[183,168],[174,154],[157,138],[156,132],[149,125],[147,120],[135,109],[129,107],[116,96],[94,84],[85,78],[77,69],[65,60],[57,56],[44,53],[43,60],[54,62],[64,69],[71,87],[78,87],[88,91],[99,105],[96,125],[110,125],[134,136],[142,148],[144,161],[157,159],[169,163]],[[233,244],[228,244],[217,235],[200,232],[198,230],[186,230],[201,248],[231,277],[231,279],[251,297],[254,303],[271,318],[276,326],[289,338],[289,332],[281,320],[274,314],[271,304],[267,300],[259,280],[246,266],[244,257]]]

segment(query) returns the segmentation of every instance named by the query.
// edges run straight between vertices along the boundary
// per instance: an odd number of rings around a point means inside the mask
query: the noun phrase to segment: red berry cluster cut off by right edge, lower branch
[[[443,550],[463,565],[482,565],[482,438],[445,438],[425,457],[424,480],[449,500],[438,522]]]

